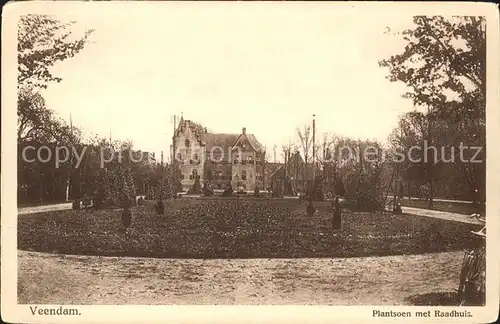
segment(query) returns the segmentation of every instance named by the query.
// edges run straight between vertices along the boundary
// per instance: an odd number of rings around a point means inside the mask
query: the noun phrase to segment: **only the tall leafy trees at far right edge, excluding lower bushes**
[[[402,53],[380,61],[388,68],[390,81],[408,86],[403,96],[416,107],[401,116],[390,137],[390,149],[408,152],[426,144],[439,153],[416,151],[415,157],[423,162],[406,159],[392,168],[401,175],[408,195],[421,184],[429,187],[429,207],[436,195],[484,201],[484,17],[417,16],[413,22],[414,28],[399,33],[406,42]],[[468,149],[460,153],[460,146]]]

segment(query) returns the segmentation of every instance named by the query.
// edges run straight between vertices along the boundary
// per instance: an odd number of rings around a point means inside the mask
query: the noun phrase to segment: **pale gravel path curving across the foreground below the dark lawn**
[[[18,302],[403,305],[456,289],[462,256],[187,260],[18,251]]]

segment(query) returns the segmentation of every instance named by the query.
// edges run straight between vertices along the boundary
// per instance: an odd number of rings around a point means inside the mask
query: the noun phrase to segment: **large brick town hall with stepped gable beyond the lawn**
[[[253,134],[209,133],[198,123],[181,118],[175,129],[172,158],[179,166],[183,190],[196,179],[213,189],[229,184],[236,189],[263,189],[265,150]]]

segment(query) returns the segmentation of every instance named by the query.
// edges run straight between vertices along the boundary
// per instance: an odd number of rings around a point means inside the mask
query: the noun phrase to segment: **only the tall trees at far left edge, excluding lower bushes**
[[[25,147],[45,145],[54,152],[56,146],[79,145],[81,132],[68,125],[49,109],[43,89],[61,78],[50,68],[57,62],[77,55],[87,43],[92,30],[71,39],[74,22],[62,23],[47,15],[22,16],[18,23],[17,143],[18,201],[20,204],[55,202],[69,195],[71,165],[26,162]],[[48,152],[44,152],[48,155]],[[47,157],[42,156],[43,159]],[[29,157],[31,160],[32,157]]]

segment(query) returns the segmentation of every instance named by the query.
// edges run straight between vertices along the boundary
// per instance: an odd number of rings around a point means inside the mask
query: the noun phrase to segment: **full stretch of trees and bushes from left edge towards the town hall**
[[[105,138],[84,138],[80,129],[58,118],[47,107],[43,89],[61,82],[51,72],[88,44],[93,30],[72,34],[74,22],[63,23],[47,15],[21,17],[18,28],[18,202],[35,204],[92,198],[97,207],[130,203],[137,193],[168,198],[174,192],[171,166],[137,160],[141,152],[132,143]],[[40,147],[47,149],[39,150]],[[29,150],[26,148],[32,147]],[[58,150],[65,147],[68,151]],[[55,153],[65,162],[55,163]],[[111,152],[121,151],[110,159]],[[78,160],[74,154],[82,155]],[[103,165],[104,159],[111,160]],[[24,154],[23,154],[24,153]],[[50,158],[49,154],[52,155]],[[46,162],[43,162],[46,161]]]

